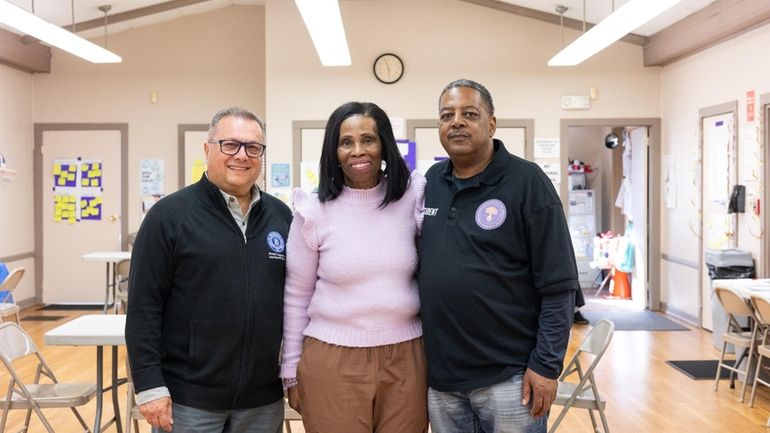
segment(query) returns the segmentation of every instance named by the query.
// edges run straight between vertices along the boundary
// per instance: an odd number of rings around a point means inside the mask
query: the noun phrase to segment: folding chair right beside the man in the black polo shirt
[[[548,430],[549,433],[556,431],[567,411],[573,407],[588,409],[588,414],[591,416],[591,424],[593,424],[594,431],[596,432],[599,432],[599,427],[596,423],[594,411],[599,412],[604,433],[610,432],[607,417],[604,415],[606,402],[599,395],[594,370],[610,345],[614,331],[615,324],[612,321],[602,319],[596,322],[564,368],[559,377],[556,400],[553,402],[555,405],[564,407],[551,425],[551,429]],[[573,373],[577,374],[578,382],[567,382],[566,378]]]

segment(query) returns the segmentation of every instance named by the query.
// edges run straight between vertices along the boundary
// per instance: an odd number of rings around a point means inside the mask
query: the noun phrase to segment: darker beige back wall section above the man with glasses
[[[140,160],[163,159],[165,192],[178,187],[178,124],[207,123],[229,105],[265,112],[264,38],[264,8],[233,6],[109,35],[120,64],[94,65],[54,49],[51,74],[35,76],[35,122],[128,123],[128,227],[135,231]],[[159,93],[157,104],[150,91]]]

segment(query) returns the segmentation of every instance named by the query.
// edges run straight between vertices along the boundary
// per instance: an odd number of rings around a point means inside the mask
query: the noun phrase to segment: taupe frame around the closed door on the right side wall
[[[703,299],[703,273],[705,272],[705,266],[706,261],[704,258],[705,253],[705,246],[703,244],[703,224],[705,221],[705,218],[703,218],[703,183],[705,182],[705,175],[706,175],[706,169],[703,166],[703,119],[707,117],[714,117],[719,116],[722,114],[732,114],[733,115],[733,143],[735,144],[735,149],[737,151],[738,149],[738,100],[733,100],[729,102],[724,102],[722,104],[717,105],[711,105],[709,107],[704,107],[698,110],[698,161],[700,164],[700,179],[698,179],[698,182],[700,183],[700,191],[698,194],[698,219],[700,219],[698,224],[698,229],[700,230],[699,236],[698,236],[698,327],[703,328],[703,308],[707,307],[706,305],[706,299]],[[729,164],[729,162],[728,162]],[[738,167],[735,167],[736,170]],[[737,242],[738,239],[738,223],[736,221],[735,223],[735,239]],[[710,305],[710,304],[709,304]],[[712,328],[713,328],[713,318],[712,318]]]

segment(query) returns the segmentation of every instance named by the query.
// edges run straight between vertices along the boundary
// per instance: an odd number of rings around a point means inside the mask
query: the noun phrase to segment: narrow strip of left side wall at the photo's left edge
[[[16,170],[13,182],[0,180],[0,261],[28,255],[35,250],[33,226],[32,148],[34,123],[34,79],[32,75],[0,65],[0,153],[7,168]],[[9,270],[24,266],[15,299],[35,295],[34,260],[7,261]]]

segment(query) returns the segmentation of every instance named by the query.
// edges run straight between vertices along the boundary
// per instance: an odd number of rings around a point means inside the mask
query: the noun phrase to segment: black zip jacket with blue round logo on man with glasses
[[[155,204],[131,255],[126,344],[134,386],[201,409],[282,398],[278,359],[291,211],[261,194],[246,239],[206,176]]]

